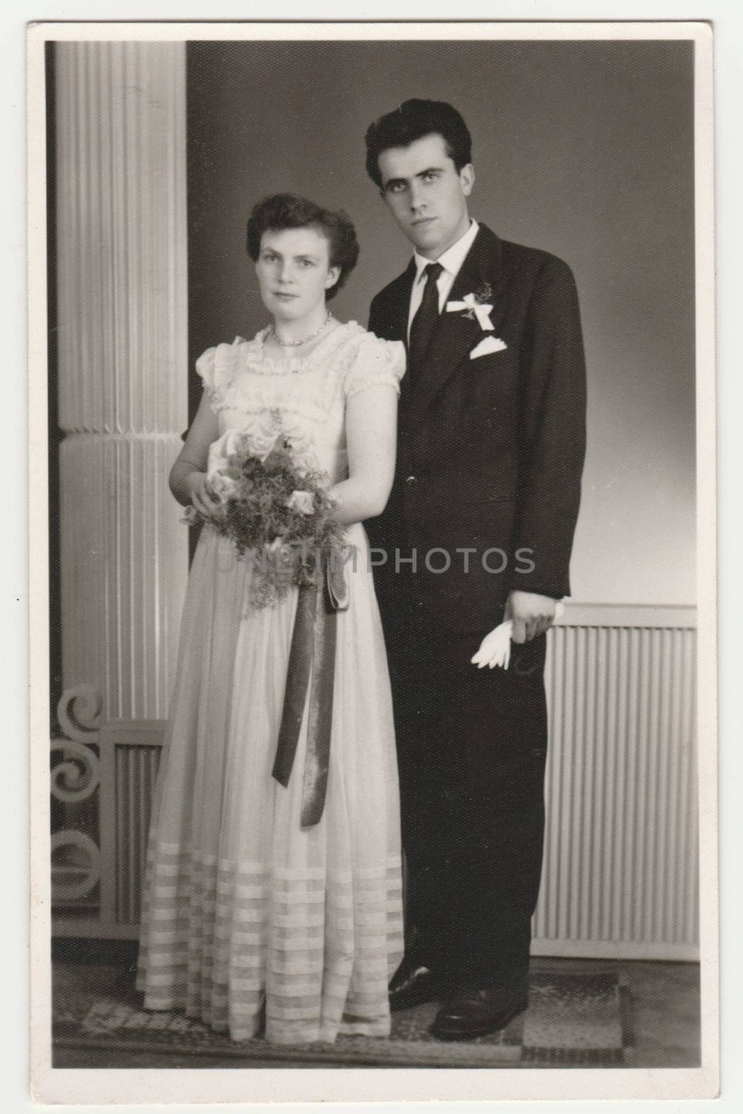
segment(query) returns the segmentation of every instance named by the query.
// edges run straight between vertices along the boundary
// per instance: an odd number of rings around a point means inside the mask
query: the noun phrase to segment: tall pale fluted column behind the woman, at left
[[[58,42],[62,681],[167,712],[187,531],[185,46]]]

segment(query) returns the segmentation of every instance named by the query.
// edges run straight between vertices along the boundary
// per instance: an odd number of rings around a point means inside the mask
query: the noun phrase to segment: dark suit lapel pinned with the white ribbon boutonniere
[[[479,293],[490,286],[488,301],[493,310],[490,320],[493,336],[498,336],[500,315],[500,291],[502,282],[502,248],[500,240],[485,225],[480,225],[459,274],[447,299],[461,302],[465,294]],[[412,283],[411,283],[412,284]],[[409,299],[408,303],[409,304]],[[411,416],[420,416],[433,401],[444,383],[467,359],[469,352],[482,336],[477,319],[465,313],[448,313],[444,304],[439,322],[431,338],[426,356],[426,367],[418,377],[416,390],[410,399]]]

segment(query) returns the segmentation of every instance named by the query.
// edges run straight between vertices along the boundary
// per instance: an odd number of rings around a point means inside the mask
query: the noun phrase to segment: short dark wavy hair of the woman
[[[314,228],[329,244],[332,267],[340,267],[338,282],[330,287],[325,299],[334,297],[359,260],[359,241],[351,218],[343,209],[338,213],[324,209],[297,194],[273,194],[253,206],[247,222],[246,247],[255,261],[261,254],[264,232],[283,232],[284,228]]]

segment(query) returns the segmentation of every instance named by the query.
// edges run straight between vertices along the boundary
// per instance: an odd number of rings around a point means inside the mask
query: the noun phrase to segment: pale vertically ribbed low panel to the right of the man
[[[691,608],[569,607],[549,637],[538,955],[697,956]]]

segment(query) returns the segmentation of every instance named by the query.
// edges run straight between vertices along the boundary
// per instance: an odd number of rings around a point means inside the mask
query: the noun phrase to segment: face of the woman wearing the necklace
[[[325,305],[325,291],[338,282],[330,245],[312,227],[264,232],[255,264],[261,297],[277,321],[300,321]]]

